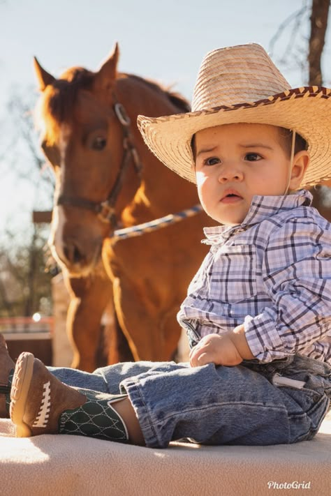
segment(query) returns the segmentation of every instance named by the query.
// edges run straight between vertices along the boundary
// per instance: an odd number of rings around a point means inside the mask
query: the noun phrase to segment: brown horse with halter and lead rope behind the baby
[[[138,114],[186,112],[188,103],[154,82],[118,73],[118,57],[116,45],[98,72],[71,68],[58,80],[36,61],[42,147],[56,177],[50,243],[71,284],[94,274],[102,252],[133,358],[168,360],[179,339],[177,310],[206,253],[200,239],[209,220],[198,213],[140,237],[112,239],[115,227],[176,213],[198,200],[196,187],[149,152],[136,126]],[[76,344],[79,339],[73,336]],[[88,346],[80,352],[89,363],[76,366],[91,370]]]

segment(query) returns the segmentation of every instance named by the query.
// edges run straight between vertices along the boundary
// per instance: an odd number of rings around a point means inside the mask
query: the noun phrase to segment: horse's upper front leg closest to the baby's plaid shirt
[[[115,278],[114,303],[119,324],[125,333],[133,359],[168,361],[180,337],[176,314],[179,306],[160,310],[146,299],[146,292],[131,280]]]

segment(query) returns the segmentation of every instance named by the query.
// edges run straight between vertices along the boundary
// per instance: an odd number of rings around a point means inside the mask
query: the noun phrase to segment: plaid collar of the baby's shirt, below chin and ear
[[[255,195],[251,201],[251,206],[241,224],[238,225],[218,225],[215,227],[205,227],[203,232],[207,239],[203,243],[212,245],[219,243],[221,236],[228,238],[234,232],[241,232],[254,224],[258,224],[277,213],[295,209],[297,206],[309,206],[313,197],[307,190],[298,190],[291,195],[263,196]]]

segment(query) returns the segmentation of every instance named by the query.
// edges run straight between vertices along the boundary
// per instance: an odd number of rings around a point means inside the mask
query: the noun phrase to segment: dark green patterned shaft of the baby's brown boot
[[[128,442],[128,431],[122,417],[111,403],[127,398],[126,395],[97,393],[75,388],[87,397],[84,405],[65,410],[59,419],[59,433],[73,434],[110,441]]]

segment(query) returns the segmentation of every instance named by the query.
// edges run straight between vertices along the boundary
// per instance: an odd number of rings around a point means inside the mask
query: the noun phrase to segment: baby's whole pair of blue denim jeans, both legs
[[[201,444],[287,444],[311,439],[328,412],[331,367],[304,356],[240,366],[130,362],[84,373],[49,370],[62,382],[127,393],[149,447],[175,439]],[[274,377],[297,384],[276,386]]]

